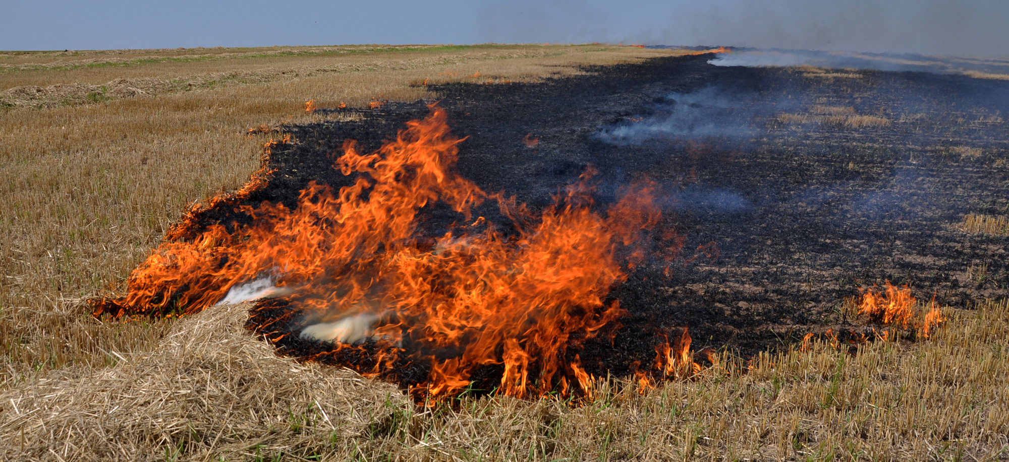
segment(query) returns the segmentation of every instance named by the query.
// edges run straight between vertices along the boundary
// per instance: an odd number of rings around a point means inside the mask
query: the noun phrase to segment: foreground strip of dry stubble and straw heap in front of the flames
[[[814,342],[589,401],[414,407],[390,385],[299,365],[243,306],[178,321],[150,352],[0,392],[17,460],[995,460],[1009,451],[1009,304],[945,309],[924,342]]]

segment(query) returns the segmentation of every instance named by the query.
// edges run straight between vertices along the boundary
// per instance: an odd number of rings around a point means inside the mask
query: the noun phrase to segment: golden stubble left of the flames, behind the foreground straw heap
[[[279,136],[250,138],[249,127],[283,131],[284,123],[323,120],[305,112],[313,99],[321,108],[434,99],[425,80],[536,81],[580,74],[582,65],[669,54],[605,45],[341,48],[353,52],[260,48],[222,57],[222,50],[203,50],[217,55],[188,61],[169,59],[194,50],[87,54],[100,64],[143,57],[121,67],[68,64],[52,56],[60,53],[3,54],[11,66],[51,66],[0,72],[0,88],[34,86],[48,95],[0,109],[0,388],[47,368],[99,366],[108,351],[144,348],[158,338],[163,326],[156,323],[96,323],[80,300],[121,288],[188,204],[248,180],[262,144]],[[220,79],[229,75],[247,79]],[[74,96],[73,89],[119,80],[146,90]],[[366,117],[367,110],[351,116]]]

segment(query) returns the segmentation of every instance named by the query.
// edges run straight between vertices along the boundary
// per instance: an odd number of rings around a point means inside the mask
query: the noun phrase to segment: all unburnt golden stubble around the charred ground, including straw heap
[[[537,81],[675,52],[590,44],[0,53],[0,458],[1009,459],[1004,302],[946,307],[930,340],[875,342],[855,356],[813,343],[749,363],[722,355],[718,367],[644,392],[606,380],[577,406],[483,397],[430,410],[391,385],[276,357],[242,329],[243,306],[103,324],[82,303],[120,290],[187,205],[247,181],[284,124],[326,117],[305,112],[306,101],[434,99],[426,80]],[[781,122],[888,123],[827,109]],[[247,135],[262,124],[281,131]],[[969,231],[1004,228],[972,220]]]

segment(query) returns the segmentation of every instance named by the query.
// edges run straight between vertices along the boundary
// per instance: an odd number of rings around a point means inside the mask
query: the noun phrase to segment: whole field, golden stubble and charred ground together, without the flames
[[[272,51],[5,56],[5,85],[21,85],[0,126],[13,140],[5,458],[1009,459],[1009,310],[995,302],[1009,282],[1006,82],[602,45]],[[218,72],[233,78],[200,80]],[[142,91],[101,88],[120,77]],[[71,84],[85,96],[60,87]],[[590,165],[600,205],[635,180],[659,185],[661,228],[682,248],[654,249],[611,293],[629,314],[611,344],[582,352],[599,377],[591,396],[424,409],[387,383],[277,356],[243,329],[248,306],[88,316],[83,299],[121,290],[187,203],[248,178],[265,140],[294,141],[270,147],[276,171],[247,203],[292,205],[310,181],[346,184],[330,166],[345,139],[376,148],[435,100],[467,136],[462,176],[534,210]],[[450,219],[426,220],[434,234]],[[832,344],[835,332],[873,337],[851,299],[887,280],[934,297],[945,323],[927,339]],[[715,351],[700,373],[625,381],[658,334],[685,327],[695,351]],[[819,335],[800,343],[807,333]],[[318,352],[295,338],[278,351]]]

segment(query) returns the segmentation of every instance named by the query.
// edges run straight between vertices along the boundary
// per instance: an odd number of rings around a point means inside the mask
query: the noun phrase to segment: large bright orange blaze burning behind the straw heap
[[[533,214],[456,174],[462,140],[444,110],[432,106],[407,125],[372,153],[344,144],[334,168],[352,186],[312,183],[291,208],[241,205],[266,170],[216,203],[245,219],[201,225],[203,209],[191,210],[130,274],[125,296],[91,302],[95,315],[188,315],[241,301],[242,291],[268,294],[281,302],[260,302],[251,328],[273,342],[292,334],[333,342],[324,354],[366,353],[373,367],[362,372],[395,378],[407,367],[422,370],[412,387],[419,399],[454,395],[479,370],[496,371],[499,394],[567,392],[570,383],[588,395],[592,377],[577,353],[625,313],[606,295],[644,255],[659,219],[655,187],[627,187],[596,212],[589,170]],[[515,234],[473,217],[488,200]],[[425,235],[423,212],[436,203],[459,221]],[[292,325],[255,324],[257,313],[277,306]],[[689,344],[684,332],[659,352],[666,375],[693,370]]]

